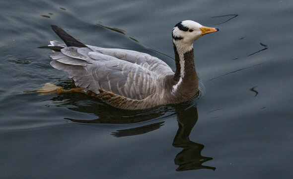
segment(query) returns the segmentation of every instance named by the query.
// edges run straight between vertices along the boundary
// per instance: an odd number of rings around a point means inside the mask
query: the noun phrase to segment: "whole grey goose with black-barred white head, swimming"
[[[50,45],[39,48],[53,50],[50,64],[69,74],[78,87],[72,91],[130,110],[181,103],[195,96],[198,76],[193,42],[219,31],[192,20],[177,23],[172,30],[176,63],[173,72],[165,62],[146,53],[85,45],[62,28],[51,27],[64,43],[50,41]],[[59,92],[71,91],[57,88]]]

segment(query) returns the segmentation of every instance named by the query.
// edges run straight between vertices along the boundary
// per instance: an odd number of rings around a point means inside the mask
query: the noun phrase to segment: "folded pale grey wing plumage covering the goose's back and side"
[[[62,45],[57,41],[51,44]],[[144,99],[155,92],[156,81],[174,74],[166,63],[148,54],[87,46],[65,47],[53,53],[51,65],[67,72],[76,86],[95,93],[103,89],[131,99]]]

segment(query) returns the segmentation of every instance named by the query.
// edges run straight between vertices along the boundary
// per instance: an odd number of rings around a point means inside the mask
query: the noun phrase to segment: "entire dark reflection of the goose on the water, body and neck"
[[[72,95],[78,96],[73,97]],[[159,129],[164,125],[162,119],[177,114],[178,130],[172,145],[174,147],[182,148],[182,151],[179,152],[174,159],[175,164],[179,166],[176,171],[216,169],[215,167],[202,165],[204,162],[212,160],[213,158],[202,156],[201,151],[203,150],[204,145],[195,143],[189,139],[189,135],[198,120],[197,108],[190,102],[179,105],[161,106],[160,108],[151,110],[131,111],[105,105],[99,100],[95,101],[87,95],[80,93],[58,94],[51,98],[51,100],[54,101],[52,104],[67,105],[70,110],[91,113],[98,116],[98,118],[91,120],[66,118],[77,123],[131,124],[147,121],[147,124],[140,124],[139,127],[112,132],[111,135],[115,137],[140,135]]]

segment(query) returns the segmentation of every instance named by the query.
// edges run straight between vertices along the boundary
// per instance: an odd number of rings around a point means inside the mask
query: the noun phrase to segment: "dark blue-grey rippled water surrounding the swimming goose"
[[[220,28],[194,44],[198,98],[131,112],[24,92],[73,87],[36,48],[59,40],[51,24],[174,69],[186,19]],[[291,179],[292,32],[292,0],[1,0],[0,179]]]

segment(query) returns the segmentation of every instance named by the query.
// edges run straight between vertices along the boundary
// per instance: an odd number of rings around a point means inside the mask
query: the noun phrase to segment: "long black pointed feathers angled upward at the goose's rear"
[[[68,47],[86,47],[83,43],[73,38],[71,35],[66,33],[62,28],[58,27],[57,25],[51,25],[51,27]]]

